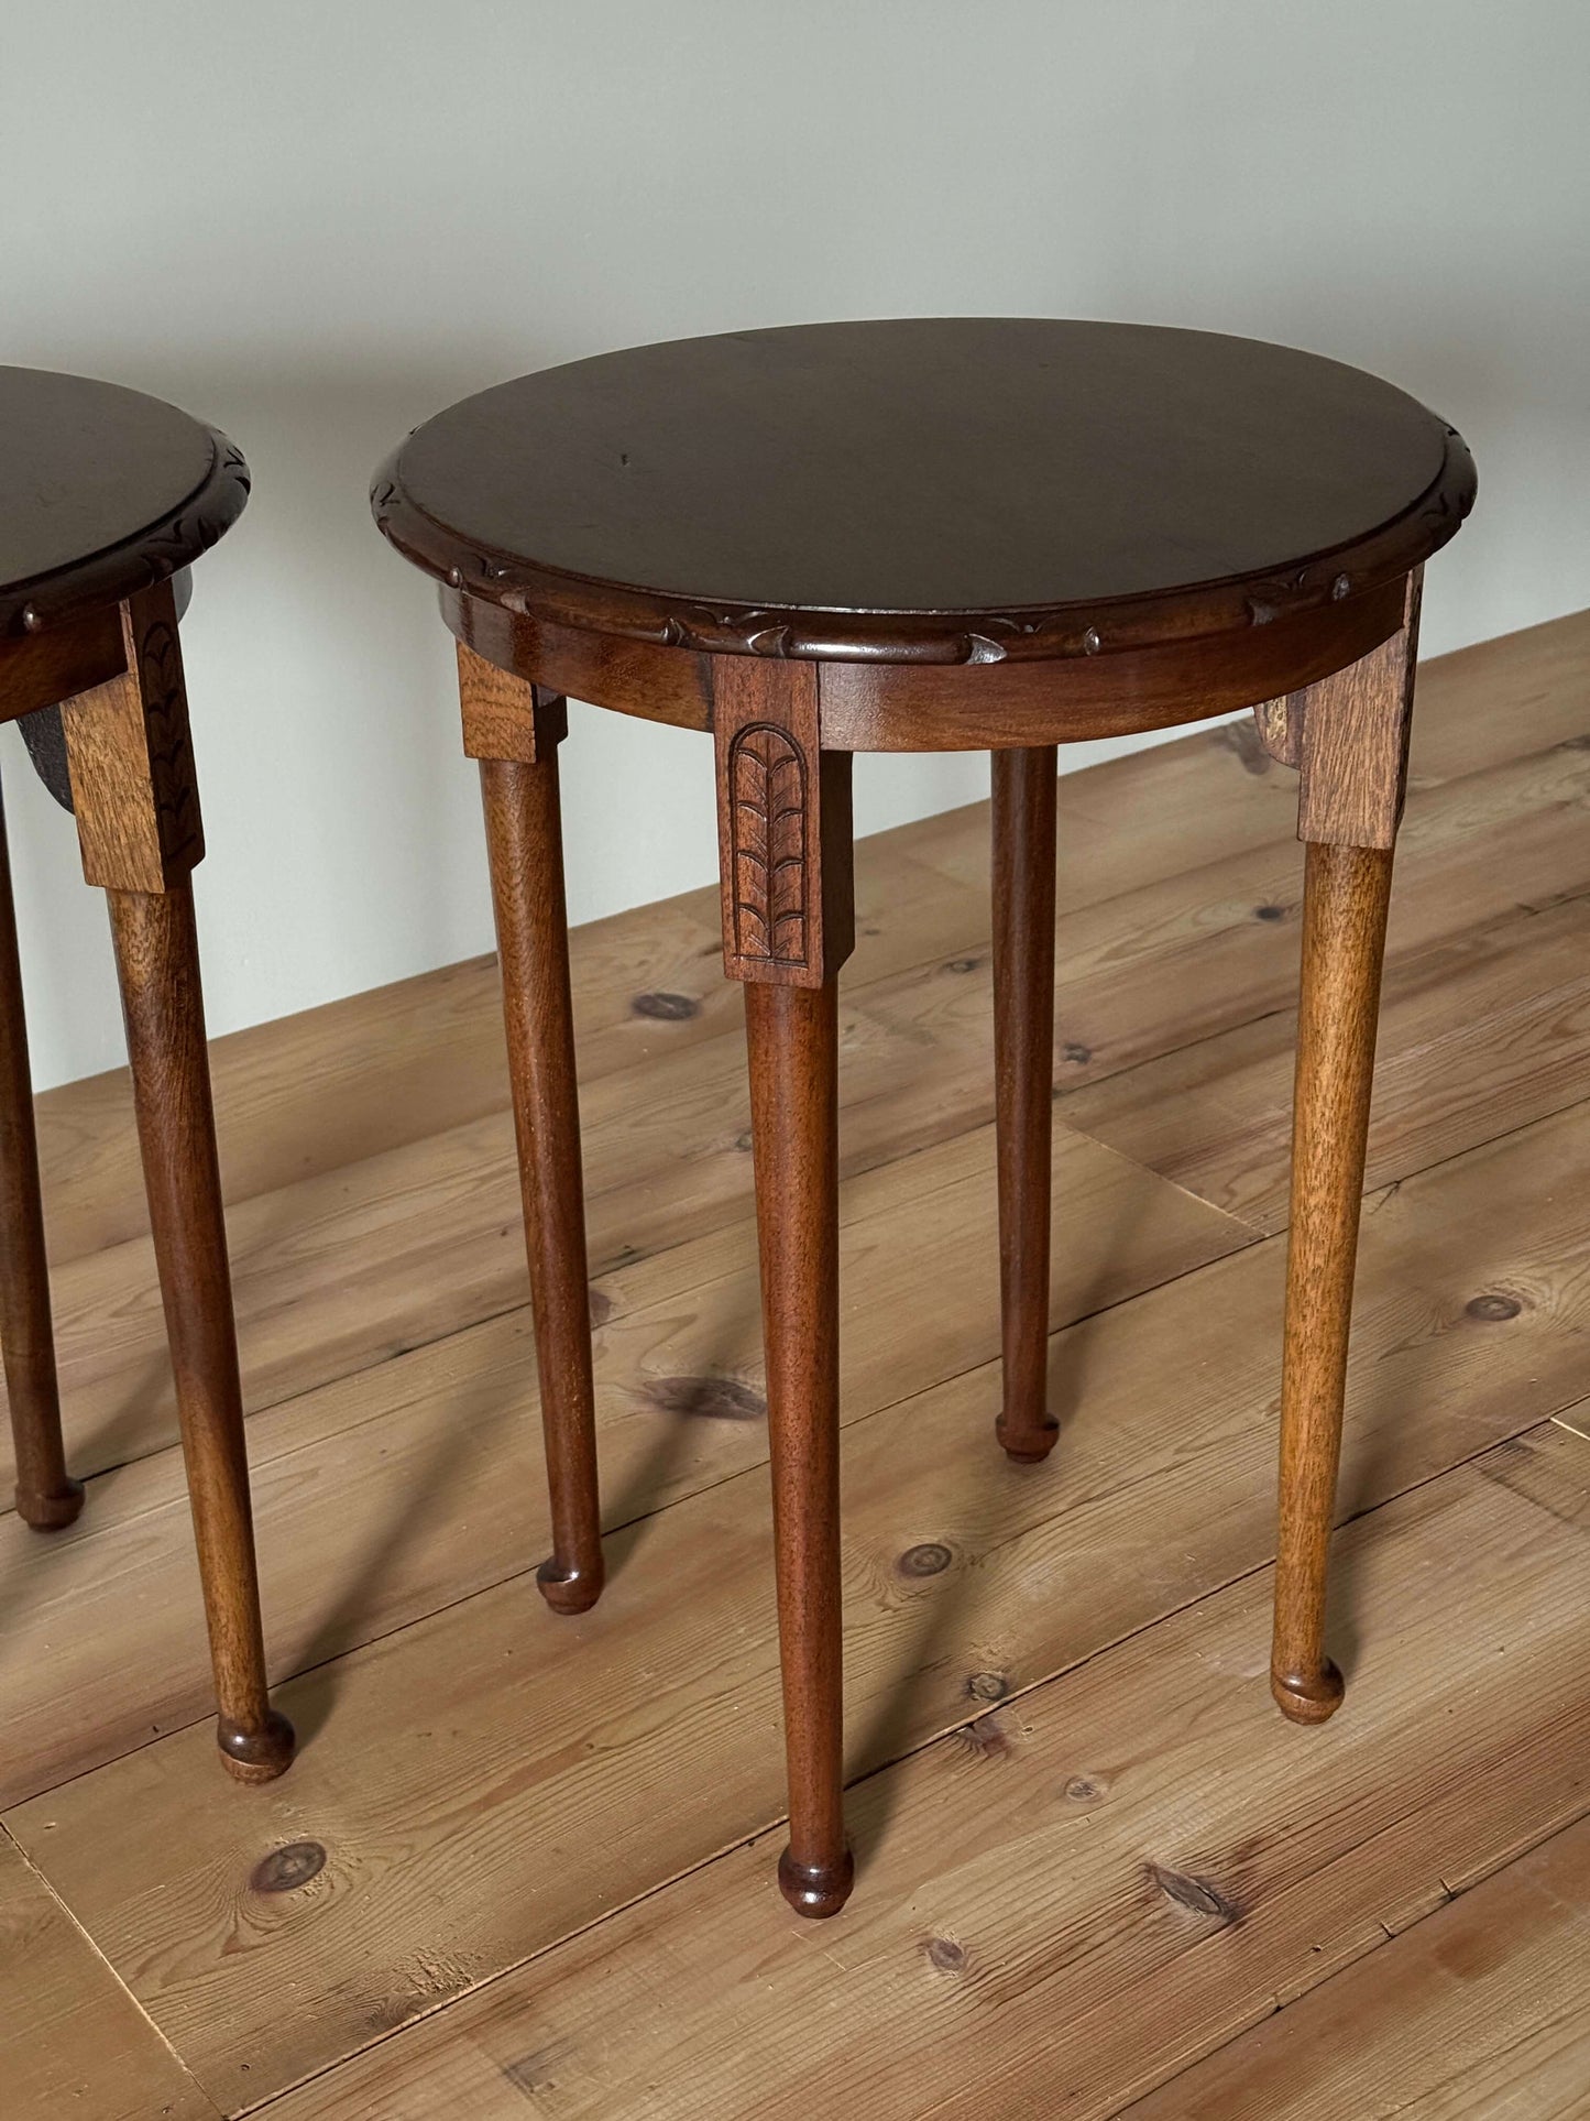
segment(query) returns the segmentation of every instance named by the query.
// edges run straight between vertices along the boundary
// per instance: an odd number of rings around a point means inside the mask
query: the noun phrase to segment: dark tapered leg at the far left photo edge
[[[34,1084],[11,901],[11,855],[0,804],[0,1349],[17,1444],[17,1514],[38,1531],[70,1525],[83,1487],[66,1472],[55,1334],[49,1315],[45,1209],[38,1196]]]

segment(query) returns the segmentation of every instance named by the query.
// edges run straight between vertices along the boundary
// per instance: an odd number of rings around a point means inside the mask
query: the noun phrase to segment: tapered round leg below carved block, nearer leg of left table
[[[267,1782],[293,1758],[293,1726],[265,1693],[193,891],[184,876],[170,891],[106,897],[210,1625],[216,1741],[240,1782]]]

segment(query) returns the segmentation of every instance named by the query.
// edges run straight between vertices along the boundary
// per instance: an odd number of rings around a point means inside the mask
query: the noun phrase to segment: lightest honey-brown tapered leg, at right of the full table
[[[1291,1133],[1280,1529],[1270,1684],[1297,1722],[1342,1699],[1325,1654],[1325,1563],[1342,1455],[1353,1266],[1370,1126],[1389,846],[1308,848]]]

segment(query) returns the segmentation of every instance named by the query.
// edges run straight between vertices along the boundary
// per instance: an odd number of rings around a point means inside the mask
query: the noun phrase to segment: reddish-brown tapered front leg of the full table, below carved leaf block
[[[844,1837],[840,1625],[837,984],[746,986],[778,1648],[784,1676],[784,1898],[837,1913]]]

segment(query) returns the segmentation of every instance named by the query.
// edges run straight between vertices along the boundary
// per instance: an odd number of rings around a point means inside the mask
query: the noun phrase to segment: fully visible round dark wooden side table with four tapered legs
[[[1056,744],[1253,706],[1308,842],[1272,1684],[1317,1722],[1325,1555],[1423,562],[1459,435],[1331,361],[1196,331],[909,320],[647,346],[411,435],[379,528],[441,581],[481,761],[558,1612],[602,1589],[558,819],[568,694],[710,730],[746,984],[789,1750],[780,1883],[842,1818],[837,1031],[850,755],[988,749],[1005,1387],[1037,1461],[1049,1319]]]

